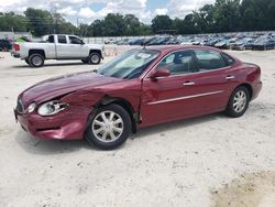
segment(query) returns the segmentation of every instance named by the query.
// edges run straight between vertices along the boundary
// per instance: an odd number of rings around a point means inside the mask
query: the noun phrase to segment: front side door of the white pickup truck
[[[77,36],[68,36],[69,50],[73,57],[87,57],[88,52],[86,45]]]

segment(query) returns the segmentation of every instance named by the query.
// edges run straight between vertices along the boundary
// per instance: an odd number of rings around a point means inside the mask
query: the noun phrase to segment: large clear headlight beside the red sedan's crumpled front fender
[[[67,103],[61,103],[57,100],[53,100],[41,105],[37,112],[40,116],[52,116],[63,111],[67,107]]]

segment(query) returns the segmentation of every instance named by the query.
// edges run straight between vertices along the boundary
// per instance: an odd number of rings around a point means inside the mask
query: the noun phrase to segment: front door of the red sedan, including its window
[[[193,81],[188,75],[194,69],[191,51],[177,51],[168,54],[151,70],[168,69],[170,76],[143,79],[141,116],[143,127],[180,119],[190,111],[196,112],[193,96]]]

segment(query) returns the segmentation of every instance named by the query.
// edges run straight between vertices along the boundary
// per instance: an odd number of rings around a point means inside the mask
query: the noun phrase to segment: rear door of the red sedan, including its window
[[[239,84],[234,59],[212,50],[194,50],[194,54],[196,72],[189,78],[195,83],[198,115],[224,110]]]

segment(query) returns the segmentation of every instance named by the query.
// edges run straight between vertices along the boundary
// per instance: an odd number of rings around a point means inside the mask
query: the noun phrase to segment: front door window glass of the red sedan
[[[165,68],[172,75],[188,74],[193,72],[193,53],[190,51],[179,51],[169,54],[161,63],[157,68]]]

